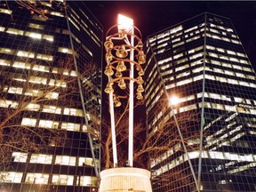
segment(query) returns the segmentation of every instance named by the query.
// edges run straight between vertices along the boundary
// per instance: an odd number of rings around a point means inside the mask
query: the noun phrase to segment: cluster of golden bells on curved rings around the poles
[[[136,44],[132,45],[129,41],[127,43],[127,36],[133,36]],[[116,40],[118,40],[118,44],[113,43],[116,43]],[[121,90],[125,90],[126,84],[129,81],[134,81],[137,83],[136,98],[137,100],[143,100],[142,92],[144,92],[144,88],[142,84],[144,81],[142,76],[144,75],[144,70],[140,65],[146,63],[146,55],[142,51],[143,44],[140,37],[127,32],[122,33],[121,31],[113,36],[108,36],[104,46],[106,50],[105,60],[107,62],[104,74],[108,76],[108,84],[104,91],[108,94],[114,93],[115,83]],[[131,58],[131,52],[133,52],[135,57]],[[135,77],[135,73],[132,78],[127,76],[131,65],[136,68],[137,77]],[[116,94],[113,95],[114,106],[121,106],[119,97]]]

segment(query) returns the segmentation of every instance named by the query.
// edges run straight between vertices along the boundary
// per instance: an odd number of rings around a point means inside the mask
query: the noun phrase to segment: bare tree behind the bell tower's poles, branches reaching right
[[[141,103],[140,103],[141,104]],[[164,102],[158,105],[158,108],[164,108]],[[184,135],[185,143],[188,140],[199,136],[199,132],[193,132],[189,126],[191,123],[198,122],[198,116],[194,112],[188,113],[186,116],[178,116],[178,123]],[[127,160],[128,148],[128,103],[125,108],[116,113],[116,148],[118,154],[118,165],[125,166]],[[102,161],[105,168],[113,167],[112,163],[112,142],[111,130],[108,119],[103,119],[101,129],[101,144],[102,144]],[[145,119],[134,124],[134,165],[140,168],[149,169],[148,158],[154,161],[157,157],[165,151],[172,148],[175,144],[180,142],[180,135],[177,131],[177,124],[173,118],[167,122],[161,121],[155,130],[147,131]],[[197,146],[188,145],[188,148],[197,148]],[[181,149],[182,150],[182,149]]]

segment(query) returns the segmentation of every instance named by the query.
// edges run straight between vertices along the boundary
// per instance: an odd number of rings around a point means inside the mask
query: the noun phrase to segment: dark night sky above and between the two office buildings
[[[118,13],[131,17],[140,28],[143,41],[164,28],[202,12],[212,12],[233,21],[236,32],[256,68],[256,1],[85,1],[103,25],[116,24]]]

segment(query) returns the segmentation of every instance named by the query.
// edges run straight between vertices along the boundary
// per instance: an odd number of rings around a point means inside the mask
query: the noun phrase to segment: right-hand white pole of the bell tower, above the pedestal
[[[134,28],[132,26],[132,35],[134,34]],[[134,37],[131,36],[131,46],[134,46]],[[133,60],[134,50],[131,48],[130,60]],[[129,146],[128,146],[128,165],[133,166],[133,87],[134,81],[132,80],[134,76],[134,65],[130,62],[130,95],[129,95]]]

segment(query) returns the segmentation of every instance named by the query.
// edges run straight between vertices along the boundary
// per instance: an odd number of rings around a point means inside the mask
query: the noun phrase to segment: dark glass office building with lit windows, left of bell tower
[[[0,18],[0,191],[97,191],[99,21],[63,1],[2,1]]]

